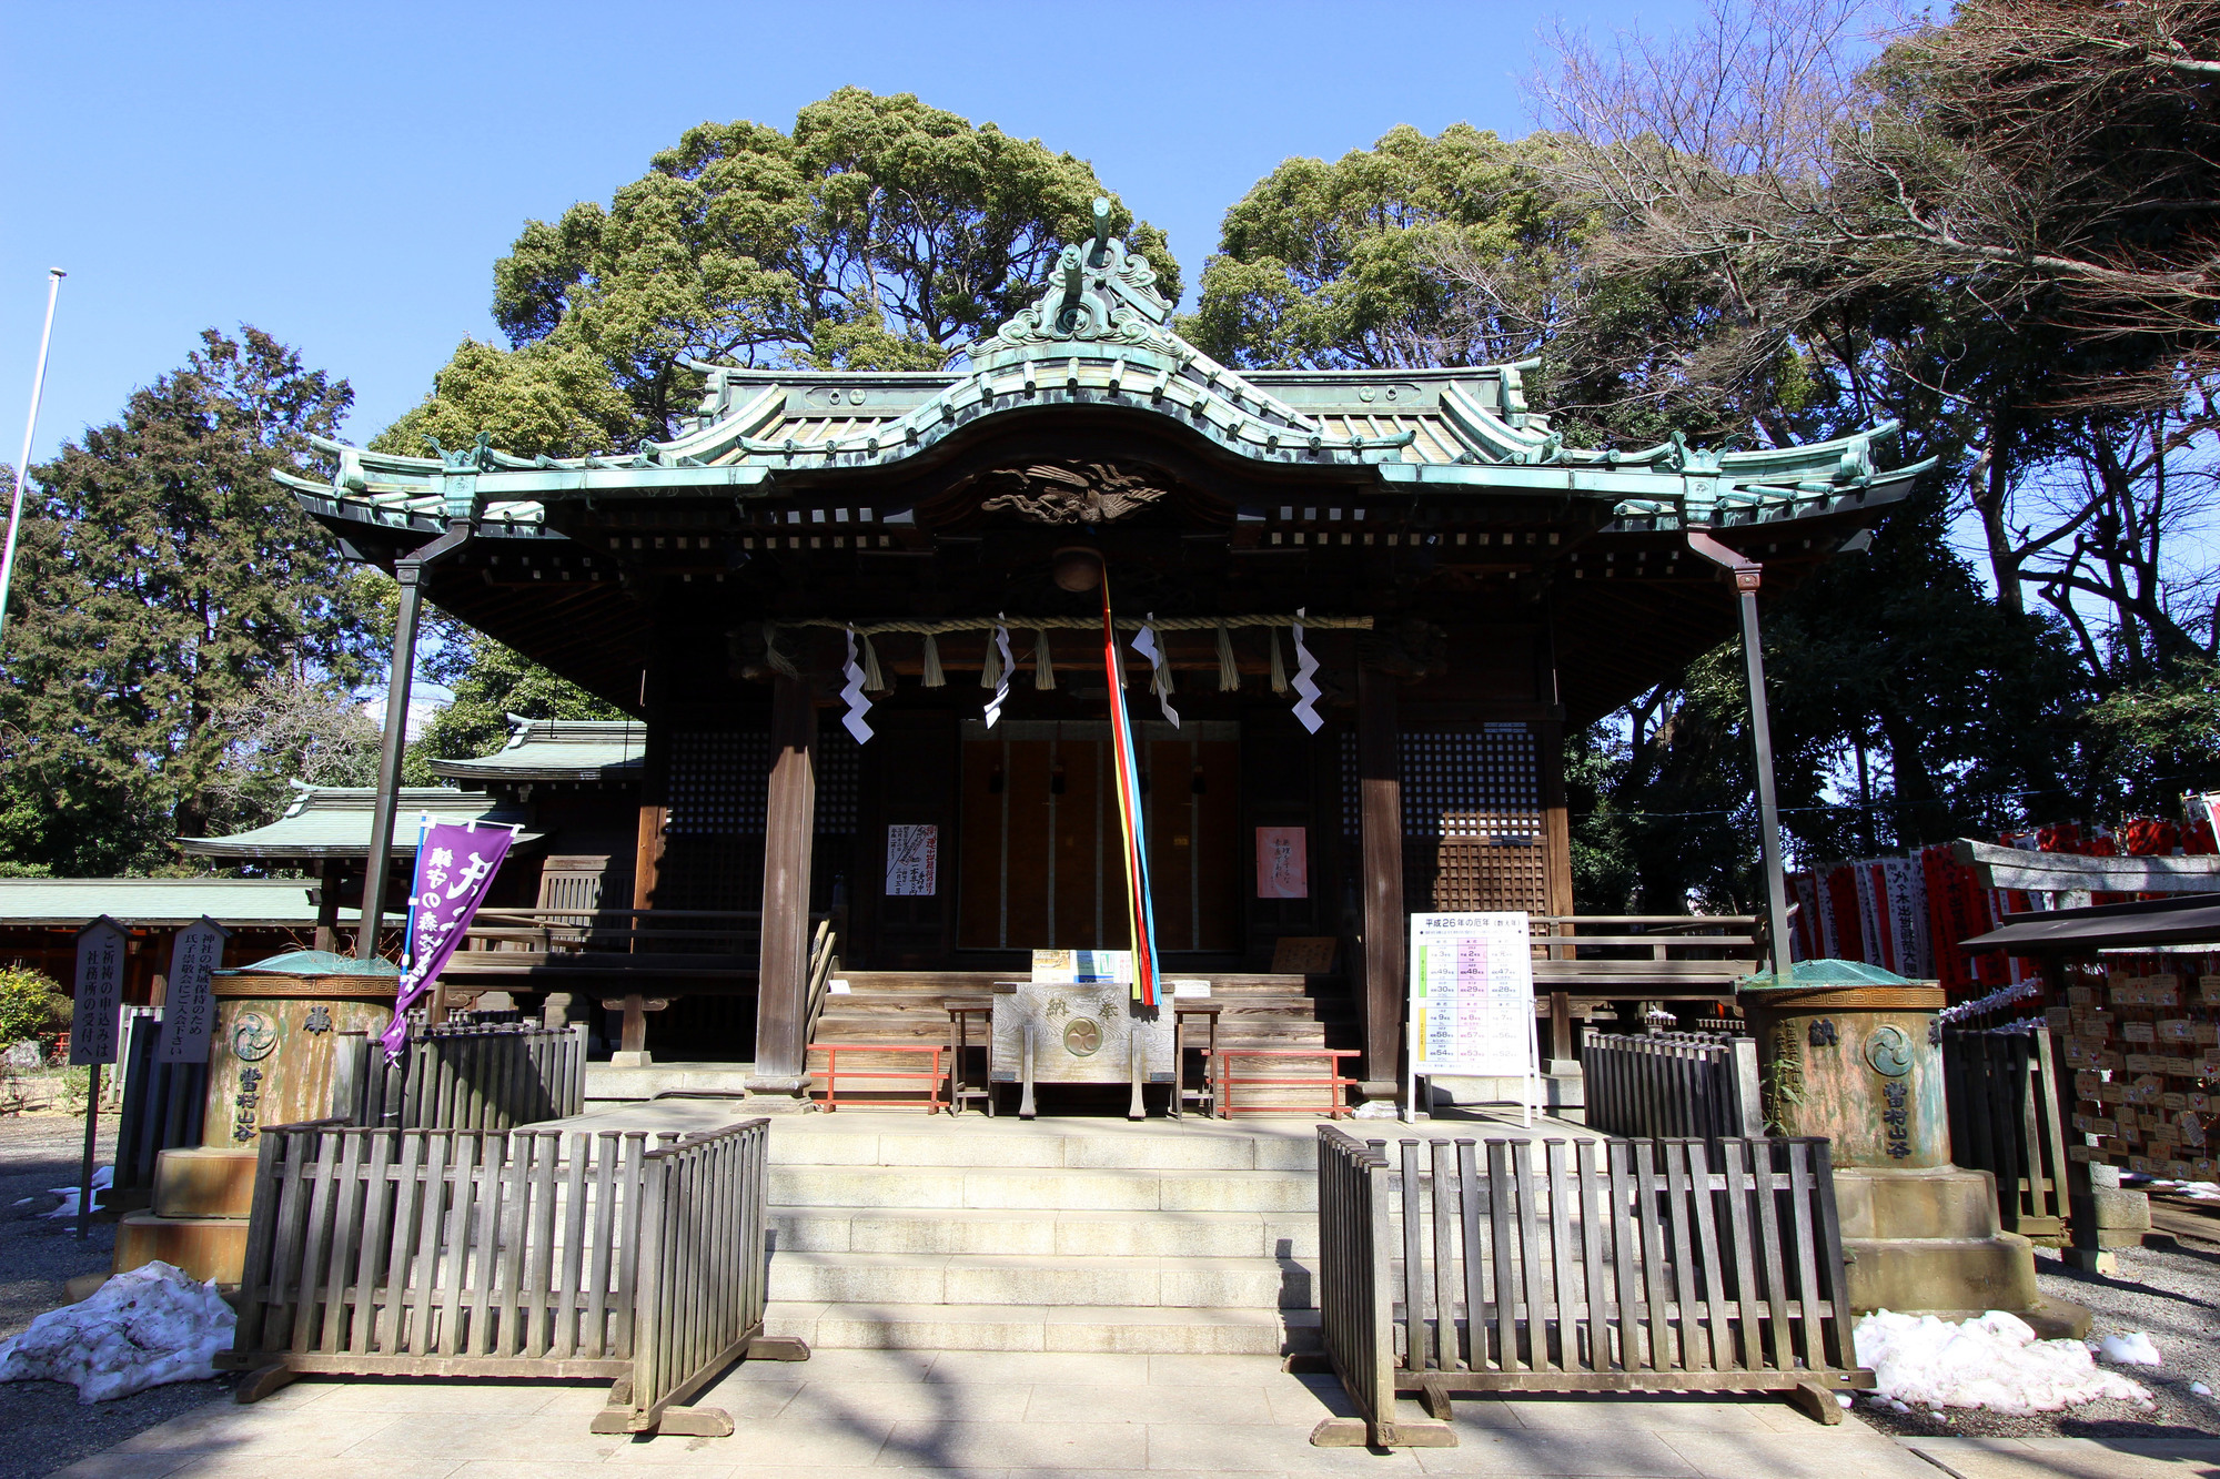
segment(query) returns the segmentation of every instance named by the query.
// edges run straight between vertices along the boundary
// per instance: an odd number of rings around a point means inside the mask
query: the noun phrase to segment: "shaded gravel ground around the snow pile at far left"
[[[100,1161],[115,1148],[100,1137]],[[0,1339],[18,1335],[33,1317],[69,1304],[64,1284],[84,1272],[107,1272],[115,1228],[95,1221],[78,1241],[73,1219],[44,1219],[62,1204],[49,1188],[71,1186],[84,1155],[84,1121],[58,1110],[0,1119]],[[78,1406],[75,1388],[60,1381],[0,1384],[0,1479],[36,1479],[100,1452],[127,1437],[167,1423],[180,1412],[224,1397],[224,1381],[178,1381],[138,1397]]]

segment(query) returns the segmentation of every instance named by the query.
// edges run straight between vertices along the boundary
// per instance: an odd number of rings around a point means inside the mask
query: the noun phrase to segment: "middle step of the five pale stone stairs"
[[[926,1252],[1059,1259],[1314,1259],[1316,1213],[1097,1213],[773,1206],[773,1261],[786,1252]]]

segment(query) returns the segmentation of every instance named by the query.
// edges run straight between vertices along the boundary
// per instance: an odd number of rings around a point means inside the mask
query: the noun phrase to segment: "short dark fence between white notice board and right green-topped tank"
[[[1605,1135],[1760,1137],[1758,1044],[1705,1033],[1592,1033],[1581,1044],[1587,1128]]]

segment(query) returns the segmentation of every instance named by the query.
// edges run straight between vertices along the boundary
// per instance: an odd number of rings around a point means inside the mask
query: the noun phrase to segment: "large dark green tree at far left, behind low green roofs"
[[[353,393],[260,329],[209,329],[122,415],[33,469],[0,651],[0,857],[56,873],[171,862],[178,833],[266,815],[249,784],[355,746],[377,600],[271,480]],[[335,737],[335,740],[333,740]]]

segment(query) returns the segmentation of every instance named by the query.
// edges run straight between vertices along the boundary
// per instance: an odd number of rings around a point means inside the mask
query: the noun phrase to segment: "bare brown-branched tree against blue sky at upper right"
[[[1756,406],[1796,355],[1927,429],[1998,604],[2058,608],[2100,686],[2196,651],[2167,533],[2220,455],[2220,0],[1714,0],[1554,44],[1541,113],[1583,147],[1552,167],[1612,227],[1590,271],[1707,304],[1649,393]]]

